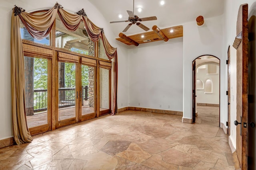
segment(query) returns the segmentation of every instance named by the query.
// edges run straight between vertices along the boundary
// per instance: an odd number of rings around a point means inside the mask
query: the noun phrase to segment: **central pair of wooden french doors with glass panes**
[[[96,117],[96,60],[58,52],[58,123]]]

